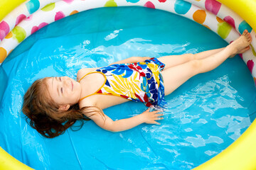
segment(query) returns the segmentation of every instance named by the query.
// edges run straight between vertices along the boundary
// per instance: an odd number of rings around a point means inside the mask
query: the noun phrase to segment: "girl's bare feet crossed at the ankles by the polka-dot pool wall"
[[[241,54],[243,52],[246,52],[247,50],[250,49],[250,42],[252,42],[252,37],[250,35],[250,33],[248,33],[247,30],[245,30],[242,35],[240,36],[240,38],[238,38],[237,40],[231,42],[230,47],[233,48],[234,50],[234,54],[230,56],[230,58],[234,57],[237,54]]]

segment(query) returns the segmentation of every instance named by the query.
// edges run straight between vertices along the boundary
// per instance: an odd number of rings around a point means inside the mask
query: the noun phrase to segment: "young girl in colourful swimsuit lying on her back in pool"
[[[80,69],[77,80],[70,77],[38,79],[24,96],[27,122],[44,137],[63,134],[76,120],[93,120],[105,130],[119,132],[142,123],[158,124],[161,111],[147,109],[132,118],[113,121],[102,109],[127,101],[164,108],[164,96],[196,74],[209,72],[228,57],[249,50],[247,30],[225,48],[196,55],[156,58],[130,57],[107,67]],[[103,95],[102,95],[103,94]]]

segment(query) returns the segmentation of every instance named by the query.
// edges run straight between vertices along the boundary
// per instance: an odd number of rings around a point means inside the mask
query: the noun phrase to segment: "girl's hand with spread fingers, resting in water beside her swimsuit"
[[[160,116],[163,116],[164,114],[158,114],[162,111],[151,111],[150,108],[148,108],[146,111],[144,111],[141,115],[144,120],[144,123],[147,124],[156,124],[161,125],[160,123],[156,122],[156,120],[163,120],[164,118],[160,118]]]

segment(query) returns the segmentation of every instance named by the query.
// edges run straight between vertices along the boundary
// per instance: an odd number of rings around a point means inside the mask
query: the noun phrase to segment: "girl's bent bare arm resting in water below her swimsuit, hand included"
[[[126,119],[121,119],[116,121],[113,121],[104,113],[103,115],[99,113],[96,113],[91,116],[87,115],[87,117],[92,119],[97,125],[99,125],[101,128],[105,130],[109,130],[111,132],[120,132],[120,131],[134,128],[135,126],[140,125],[142,123],[160,125],[160,123],[156,122],[156,120],[162,120],[164,118],[160,118],[160,116],[162,116],[163,114],[159,114],[159,112],[161,111],[150,112],[148,108],[143,113],[139,115],[135,115],[132,118],[126,118]]]

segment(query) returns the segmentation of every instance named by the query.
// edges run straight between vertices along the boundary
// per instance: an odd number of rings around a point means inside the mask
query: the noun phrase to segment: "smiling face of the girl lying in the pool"
[[[50,97],[59,106],[72,106],[78,103],[82,91],[82,87],[78,81],[70,77],[50,77],[46,79],[46,84]]]

